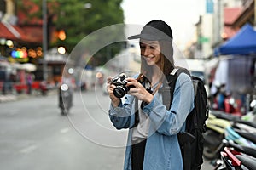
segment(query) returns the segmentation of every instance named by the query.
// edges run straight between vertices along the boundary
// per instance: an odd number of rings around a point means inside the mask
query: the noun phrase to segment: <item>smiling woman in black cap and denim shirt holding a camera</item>
[[[140,38],[141,74],[126,78],[126,86],[133,87],[125,102],[113,94],[113,77],[108,77],[107,86],[113,126],[129,128],[124,169],[183,169],[177,133],[184,130],[186,117],[194,108],[193,84],[187,74],[181,73],[167,110],[159,89],[174,68],[172,30],[166,22],[152,20],[141,34],[128,37],[135,38]]]

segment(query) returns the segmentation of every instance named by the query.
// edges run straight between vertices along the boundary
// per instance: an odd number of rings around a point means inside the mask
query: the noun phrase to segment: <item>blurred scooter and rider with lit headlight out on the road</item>
[[[61,115],[67,115],[73,103],[73,93],[67,84],[61,84],[59,88],[59,107]]]

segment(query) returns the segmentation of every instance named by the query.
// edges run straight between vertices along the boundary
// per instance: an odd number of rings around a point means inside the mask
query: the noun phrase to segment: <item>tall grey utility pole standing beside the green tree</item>
[[[43,77],[44,81],[47,81],[48,78],[48,69],[47,69],[47,0],[42,1],[42,10],[43,10]]]

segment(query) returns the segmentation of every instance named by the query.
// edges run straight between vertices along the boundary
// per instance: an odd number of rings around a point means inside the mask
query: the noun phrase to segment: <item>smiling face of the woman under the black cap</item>
[[[141,55],[148,65],[160,65],[160,43],[158,41],[140,41]]]

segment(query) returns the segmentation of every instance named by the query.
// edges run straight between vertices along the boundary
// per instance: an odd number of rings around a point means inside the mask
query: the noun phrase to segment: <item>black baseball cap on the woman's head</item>
[[[162,20],[151,20],[140,34],[128,37],[129,40],[142,38],[149,41],[166,40],[172,42],[172,29]]]

